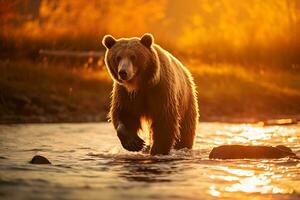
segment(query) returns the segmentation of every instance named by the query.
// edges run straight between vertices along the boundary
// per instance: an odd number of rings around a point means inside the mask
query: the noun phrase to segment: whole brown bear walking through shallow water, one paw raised
[[[190,72],[151,34],[116,40],[106,35],[105,64],[114,80],[109,117],[122,146],[140,151],[141,117],[150,119],[151,155],[192,148],[198,122],[195,84]]]

